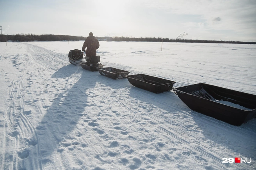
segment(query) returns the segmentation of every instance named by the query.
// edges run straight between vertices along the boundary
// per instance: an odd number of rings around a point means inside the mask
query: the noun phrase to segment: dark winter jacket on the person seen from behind
[[[86,47],[87,57],[96,56],[96,49],[100,47],[100,43],[94,36],[88,36],[87,39],[84,41],[82,50],[84,51]]]

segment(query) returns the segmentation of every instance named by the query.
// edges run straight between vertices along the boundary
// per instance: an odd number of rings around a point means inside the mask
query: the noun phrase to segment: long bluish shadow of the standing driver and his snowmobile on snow
[[[76,137],[82,135],[73,130],[78,120],[85,114],[88,106],[85,92],[87,89],[95,87],[97,76],[95,73],[70,64],[60,68],[52,75],[52,78],[67,78],[74,73],[78,73],[75,76],[81,74],[79,80],[72,88],[56,94],[52,105],[47,109],[39,126],[36,127],[40,141],[40,153],[43,157],[48,157],[55,151],[62,152],[63,149],[58,149],[58,147],[72,145],[65,143],[65,138],[75,140]],[[42,160],[42,163],[51,161],[48,158]]]

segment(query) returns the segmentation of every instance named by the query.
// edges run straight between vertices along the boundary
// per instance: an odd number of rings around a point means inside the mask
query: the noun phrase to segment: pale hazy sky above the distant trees
[[[256,0],[0,0],[4,34],[256,42]]]

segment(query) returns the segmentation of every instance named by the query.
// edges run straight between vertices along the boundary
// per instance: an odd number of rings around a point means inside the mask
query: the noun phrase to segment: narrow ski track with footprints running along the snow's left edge
[[[22,62],[17,62],[18,57],[19,55],[12,56],[12,64],[15,64],[13,66],[17,69],[22,65]],[[4,116],[10,128],[10,131],[7,134],[14,138],[14,140],[12,140],[12,142],[6,140],[4,143],[7,145],[5,147],[8,148],[8,150],[11,148],[14,148],[14,150],[10,151],[12,154],[5,156],[5,159],[8,158],[11,164],[3,165],[3,167],[4,169],[20,169],[20,164],[24,161],[29,163],[32,169],[42,169],[41,160],[38,159],[40,151],[37,133],[26,116],[30,111],[24,110],[24,105],[30,104],[30,101],[24,101],[24,73],[20,72],[16,73],[18,79],[12,81],[9,85],[9,87],[11,87],[9,97],[7,98],[9,106],[6,109]],[[33,146],[33,148],[31,146]],[[25,160],[25,158],[28,159]]]

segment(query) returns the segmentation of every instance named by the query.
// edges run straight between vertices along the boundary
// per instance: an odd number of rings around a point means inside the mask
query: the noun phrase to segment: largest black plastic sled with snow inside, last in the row
[[[256,117],[256,95],[204,83],[173,88],[188,108],[231,125]]]

